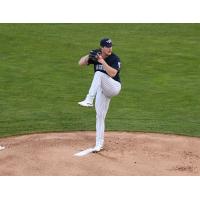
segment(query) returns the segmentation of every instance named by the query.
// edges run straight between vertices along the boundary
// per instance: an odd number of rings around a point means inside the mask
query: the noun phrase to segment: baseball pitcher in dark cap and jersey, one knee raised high
[[[90,51],[79,61],[80,66],[90,64],[94,65],[93,81],[85,100],[78,104],[92,107],[95,99],[96,145],[93,152],[99,152],[104,145],[105,118],[110,100],[121,90],[120,59],[112,52],[111,39],[103,38],[99,49]]]

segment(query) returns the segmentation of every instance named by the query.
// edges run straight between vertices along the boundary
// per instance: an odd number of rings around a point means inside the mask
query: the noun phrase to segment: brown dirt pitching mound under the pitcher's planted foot
[[[200,138],[153,133],[94,132],[33,134],[1,138],[0,175],[200,175]]]

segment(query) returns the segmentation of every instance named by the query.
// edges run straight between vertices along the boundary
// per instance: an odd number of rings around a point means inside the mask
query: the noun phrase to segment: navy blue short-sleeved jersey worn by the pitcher
[[[117,70],[117,74],[115,75],[115,77],[112,77],[114,80],[121,82],[120,81],[120,77],[119,77],[119,72],[120,72],[120,59],[117,55],[115,55],[114,53],[112,53],[110,56],[108,56],[107,58],[105,58],[106,63]],[[103,65],[99,62],[94,62],[92,60],[88,60],[88,64],[94,64],[94,72],[96,71],[100,71],[103,72],[105,74],[107,74],[107,72],[105,71]]]

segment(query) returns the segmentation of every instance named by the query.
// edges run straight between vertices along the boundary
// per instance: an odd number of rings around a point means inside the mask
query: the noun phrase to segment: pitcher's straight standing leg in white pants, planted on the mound
[[[104,145],[105,118],[109,108],[110,98],[106,97],[99,88],[96,96],[96,150],[100,151]]]

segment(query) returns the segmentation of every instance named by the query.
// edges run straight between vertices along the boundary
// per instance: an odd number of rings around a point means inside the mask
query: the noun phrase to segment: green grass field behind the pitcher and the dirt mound
[[[77,63],[105,36],[122,61],[106,129],[200,136],[200,24],[0,24],[0,136],[95,130]]]

